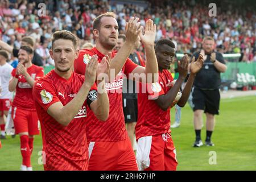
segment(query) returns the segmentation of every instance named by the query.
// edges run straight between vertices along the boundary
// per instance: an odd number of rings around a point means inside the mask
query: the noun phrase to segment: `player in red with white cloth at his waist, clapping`
[[[180,86],[187,77],[188,56],[178,61],[179,78],[174,78],[167,70],[175,56],[175,44],[170,39],[162,39],[156,43],[155,52],[158,60],[159,81],[147,84],[147,92],[138,93],[138,122],[135,135],[138,140],[137,163],[139,170],[176,170],[177,160],[170,130],[170,109],[176,103],[183,107],[196,73],[203,66],[203,56],[195,61],[192,59],[187,85],[179,92]],[[145,86],[143,83],[140,88]],[[180,97],[181,96],[181,97]],[[179,97],[179,98],[177,98]]]

